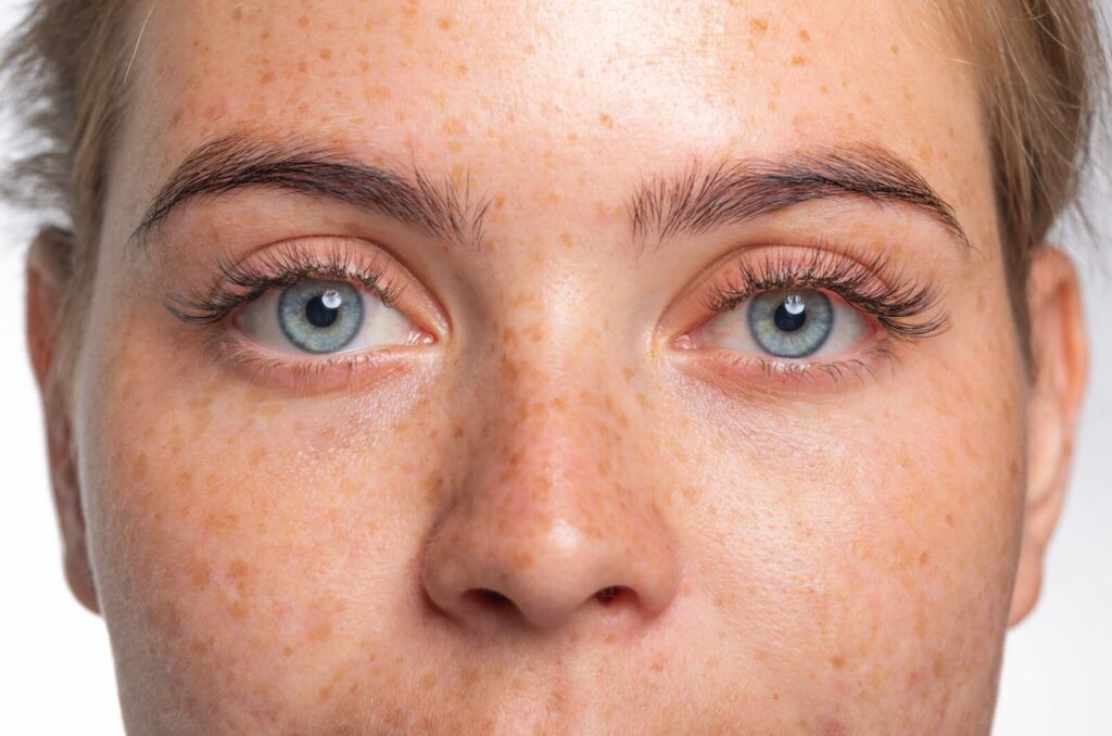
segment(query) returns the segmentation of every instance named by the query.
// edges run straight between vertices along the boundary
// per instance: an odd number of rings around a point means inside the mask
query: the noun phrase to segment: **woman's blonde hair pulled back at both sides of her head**
[[[27,130],[47,141],[17,162],[9,195],[54,205],[69,249],[72,314],[92,277],[107,163],[127,98],[133,0],[36,0],[3,58]],[[996,209],[1013,309],[1025,322],[1032,249],[1076,198],[1105,83],[1099,16],[1090,0],[941,3],[980,69]],[[66,319],[67,322],[72,321]]]

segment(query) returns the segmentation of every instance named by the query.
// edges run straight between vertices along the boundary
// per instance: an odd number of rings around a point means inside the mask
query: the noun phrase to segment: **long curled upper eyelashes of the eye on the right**
[[[814,250],[801,260],[783,253],[741,260],[706,296],[713,312],[733,309],[746,299],[778,289],[826,289],[876,318],[891,334],[909,339],[930,337],[949,324],[945,314],[915,318],[933,310],[939,290],[893,269],[883,253],[861,262],[836,250]]]

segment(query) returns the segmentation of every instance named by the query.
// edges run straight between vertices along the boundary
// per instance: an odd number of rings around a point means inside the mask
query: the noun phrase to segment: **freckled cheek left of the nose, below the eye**
[[[403,585],[440,484],[411,450],[435,441],[436,402],[405,398],[415,376],[388,396],[276,397],[178,372],[127,347],[157,344],[140,332],[102,349],[79,434],[121,687],[172,662],[176,707],[319,706],[302,699],[394,618],[398,596],[374,591]]]

